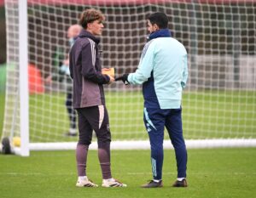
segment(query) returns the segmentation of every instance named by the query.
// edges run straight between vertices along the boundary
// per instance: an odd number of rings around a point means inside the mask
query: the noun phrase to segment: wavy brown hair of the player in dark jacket
[[[95,20],[105,20],[105,17],[102,14],[102,12],[94,8],[85,9],[83,13],[80,15],[79,24],[86,29],[87,24]]]

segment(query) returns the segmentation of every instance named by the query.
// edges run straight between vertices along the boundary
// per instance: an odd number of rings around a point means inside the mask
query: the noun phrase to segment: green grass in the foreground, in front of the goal
[[[2,198],[247,198],[256,195],[256,150],[188,150],[188,188],[175,189],[173,150],[165,150],[164,187],[142,189],[151,178],[149,150],[113,150],[113,177],[127,188],[75,187],[77,174],[74,151],[34,151],[29,157],[0,155]],[[90,150],[87,174],[96,184],[102,175],[96,150]]]

